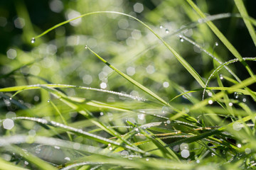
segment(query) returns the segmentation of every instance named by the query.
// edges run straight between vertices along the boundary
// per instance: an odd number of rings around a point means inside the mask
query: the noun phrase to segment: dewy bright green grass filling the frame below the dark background
[[[256,59],[215,26],[245,21],[255,44],[242,1],[213,16],[207,1],[164,1],[143,17],[80,3],[85,14],[37,30],[30,52],[6,60],[0,169],[255,169]]]

